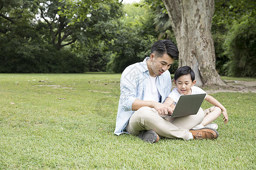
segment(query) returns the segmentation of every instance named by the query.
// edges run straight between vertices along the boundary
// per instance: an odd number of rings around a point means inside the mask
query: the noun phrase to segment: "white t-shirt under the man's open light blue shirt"
[[[156,76],[152,77],[149,76],[148,81],[147,81],[147,85],[146,85],[146,89],[144,91],[144,101],[160,101],[160,94],[158,92],[158,88],[156,87],[155,84],[156,81]]]

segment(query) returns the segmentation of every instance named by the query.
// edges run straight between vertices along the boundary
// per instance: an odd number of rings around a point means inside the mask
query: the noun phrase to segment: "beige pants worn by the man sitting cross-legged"
[[[126,131],[138,135],[141,130],[154,130],[160,137],[187,140],[189,129],[199,125],[204,118],[204,111],[197,114],[176,118],[162,118],[154,108],[142,107],[131,116]]]

